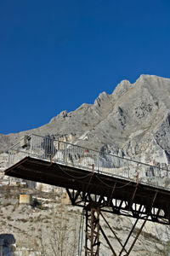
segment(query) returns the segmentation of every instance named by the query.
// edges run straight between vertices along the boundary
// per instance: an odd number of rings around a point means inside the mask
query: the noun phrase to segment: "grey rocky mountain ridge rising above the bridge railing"
[[[36,133],[53,135],[88,148],[108,149],[148,163],[170,161],[170,79],[141,75],[123,80],[111,95],[101,93],[94,104],[63,111],[47,125],[18,134],[0,135],[1,152],[16,139]],[[111,149],[112,148],[112,149]]]

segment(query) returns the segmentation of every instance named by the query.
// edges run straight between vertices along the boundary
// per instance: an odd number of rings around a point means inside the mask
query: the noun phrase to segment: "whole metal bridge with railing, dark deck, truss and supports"
[[[31,135],[9,148],[5,174],[66,189],[71,204],[86,212],[85,256],[99,255],[100,233],[114,256],[129,255],[147,220],[170,224],[170,172],[166,168]],[[124,243],[105,212],[136,218]],[[100,216],[121,245],[120,252],[105,235]],[[139,219],[143,224],[127,246]]]

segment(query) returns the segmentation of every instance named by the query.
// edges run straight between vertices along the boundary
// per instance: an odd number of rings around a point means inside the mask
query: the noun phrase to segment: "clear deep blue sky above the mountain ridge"
[[[170,78],[170,0],[0,0],[0,133],[144,73]]]

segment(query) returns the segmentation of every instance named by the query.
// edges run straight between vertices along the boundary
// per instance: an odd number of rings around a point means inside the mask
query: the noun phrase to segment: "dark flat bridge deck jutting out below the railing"
[[[86,194],[99,195],[100,202],[105,201],[103,206],[111,206],[113,212],[122,215],[125,214],[120,210],[133,212],[133,217],[135,215],[139,216],[139,214],[145,216],[151,210],[150,220],[156,222],[166,220],[165,222],[169,224],[170,191],[165,189],[158,189],[133,181],[129,182],[126,179],[107,176],[93,172],[93,170],[90,172],[73,166],[50,163],[47,160],[38,160],[29,156],[20,160],[14,166],[8,167],[5,174],[64,187],[65,189],[77,190],[79,195],[82,193],[81,198]],[[153,201],[155,195],[156,199]],[[119,205],[114,204],[114,200],[120,201]],[[72,203],[78,205],[74,196],[72,197]],[[144,207],[144,210],[141,207]]]

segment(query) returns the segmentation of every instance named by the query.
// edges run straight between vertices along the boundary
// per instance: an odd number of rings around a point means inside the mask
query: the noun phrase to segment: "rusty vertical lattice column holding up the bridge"
[[[86,210],[85,256],[99,256],[99,207]]]

